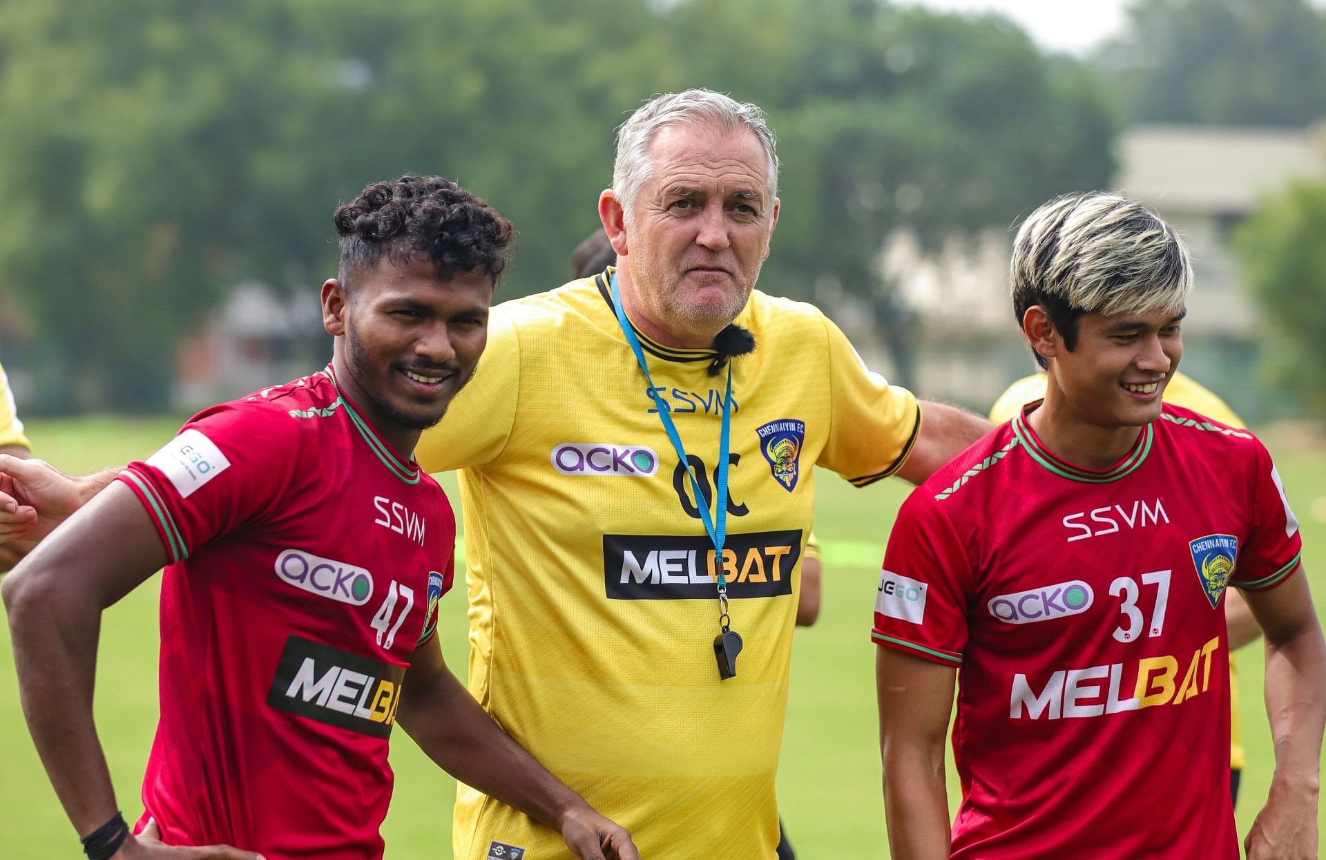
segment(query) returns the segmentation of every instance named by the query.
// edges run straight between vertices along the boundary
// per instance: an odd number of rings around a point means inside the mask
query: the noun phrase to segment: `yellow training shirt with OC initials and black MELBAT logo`
[[[869,373],[815,308],[754,292],[736,322],[756,349],[732,360],[717,563],[606,273],[493,308],[473,381],[416,453],[463,470],[471,693],[646,857],[773,859],[812,466],[870,483],[920,426],[911,393]],[[711,350],[640,342],[712,496],[727,370],[708,373]],[[745,641],[727,681],[716,567]],[[457,860],[572,856],[465,786],[453,840]]]

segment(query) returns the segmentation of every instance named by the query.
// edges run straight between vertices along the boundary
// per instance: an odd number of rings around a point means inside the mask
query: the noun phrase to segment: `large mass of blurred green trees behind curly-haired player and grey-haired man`
[[[768,107],[785,216],[765,287],[870,299],[878,256],[1004,227],[1110,175],[1113,126],[1071,61],[1004,19],[882,0],[0,0],[0,291],[68,407],[159,407],[176,342],[241,280],[314,291],[330,214],[436,173],[516,222],[500,296],[566,277],[652,93]],[[322,341],[318,341],[320,348]],[[57,381],[68,381],[60,385]]]

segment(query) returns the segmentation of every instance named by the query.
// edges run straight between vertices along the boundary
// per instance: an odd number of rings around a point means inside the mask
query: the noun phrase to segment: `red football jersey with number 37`
[[[960,666],[952,856],[1237,860],[1224,589],[1299,544],[1266,449],[1171,405],[1109,471],[1022,413],[918,487],[874,640]]]

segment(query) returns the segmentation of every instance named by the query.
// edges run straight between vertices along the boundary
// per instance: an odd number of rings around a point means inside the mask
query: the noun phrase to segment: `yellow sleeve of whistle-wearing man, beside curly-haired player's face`
[[[473,378],[456,394],[442,421],[423,431],[415,458],[427,472],[492,462],[507,446],[520,392],[520,332],[513,315],[495,308],[488,345]]]

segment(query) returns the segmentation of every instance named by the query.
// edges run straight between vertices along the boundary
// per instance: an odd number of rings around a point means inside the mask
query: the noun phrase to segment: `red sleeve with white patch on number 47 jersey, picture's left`
[[[147,508],[170,563],[280,508],[300,454],[296,422],[223,403],[118,476]]]

